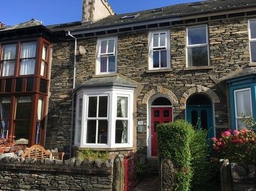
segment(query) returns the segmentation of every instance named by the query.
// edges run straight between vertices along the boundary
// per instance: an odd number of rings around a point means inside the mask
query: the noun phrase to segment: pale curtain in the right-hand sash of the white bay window
[[[122,118],[127,118],[127,111],[128,111],[128,97],[119,97],[120,103],[121,103],[121,117]],[[128,123],[127,120],[122,120],[123,124],[123,133],[122,133],[122,139],[121,143],[127,143],[127,128],[128,128]]]

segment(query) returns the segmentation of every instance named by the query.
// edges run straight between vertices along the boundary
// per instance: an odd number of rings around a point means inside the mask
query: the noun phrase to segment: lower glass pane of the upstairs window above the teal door
[[[189,66],[208,66],[207,46],[187,49]]]

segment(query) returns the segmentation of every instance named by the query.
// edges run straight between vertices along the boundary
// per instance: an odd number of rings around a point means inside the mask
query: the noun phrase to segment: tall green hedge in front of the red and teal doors
[[[174,190],[199,190],[209,177],[207,132],[183,120],[163,123],[157,132],[159,157],[173,163]]]

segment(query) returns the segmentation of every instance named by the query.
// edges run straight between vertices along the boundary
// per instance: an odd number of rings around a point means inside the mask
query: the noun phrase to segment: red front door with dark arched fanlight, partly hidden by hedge
[[[166,97],[157,97],[151,103],[151,128],[149,130],[151,156],[158,156],[158,135],[156,128],[161,123],[173,121],[172,102]]]

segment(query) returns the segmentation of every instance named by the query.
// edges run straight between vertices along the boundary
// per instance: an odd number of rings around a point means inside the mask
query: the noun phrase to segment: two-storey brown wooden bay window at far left
[[[1,46],[1,138],[43,144],[50,42],[39,37]]]

